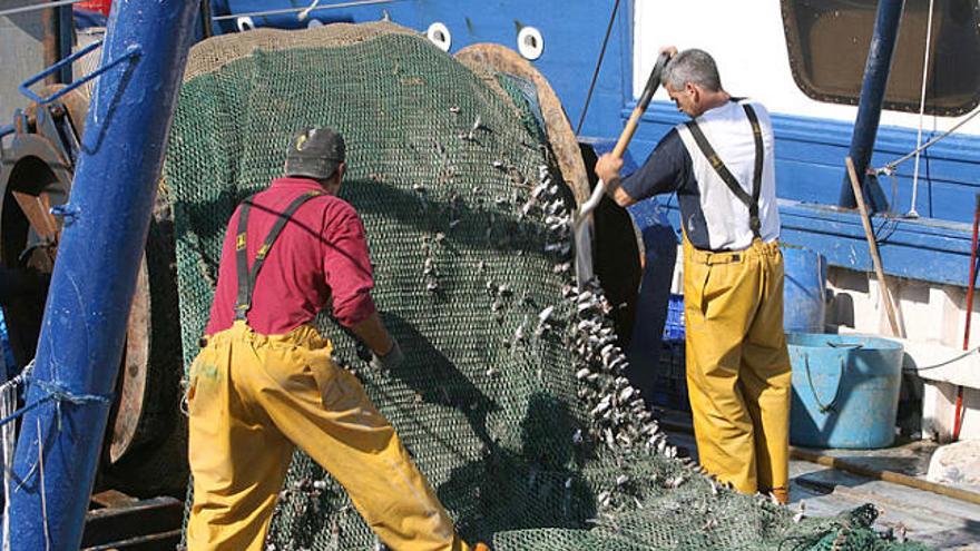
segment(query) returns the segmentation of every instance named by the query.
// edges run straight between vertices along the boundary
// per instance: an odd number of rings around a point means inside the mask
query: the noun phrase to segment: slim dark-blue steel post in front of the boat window
[[[864,171],[868,169],[868,164],[871,163],[871,154],[874,150],[874,138],[878,136],[881,105],[884,100],[884,90],[892,67],[892,53],[895,51],[903,4],[904,0],[880,0],[878,2],[874,35],[871,37],[868,62],[864,65],[864,82],[861,85],[857,119],[854,121],[851,151],[847,154],[854,160],[854,169],[857,171],[862,186],[864,185]],[[868,193],[864,195],[869,196]],[[846,173],[844,173],[841,198],[837,203],[846,208],[857,206]]]

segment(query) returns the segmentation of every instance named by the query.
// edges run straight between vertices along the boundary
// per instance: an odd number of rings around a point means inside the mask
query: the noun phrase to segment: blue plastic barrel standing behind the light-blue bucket
[[[826,259],[808,248],[782,247],[783,328],[787,333],[822,333],[826,314]]]

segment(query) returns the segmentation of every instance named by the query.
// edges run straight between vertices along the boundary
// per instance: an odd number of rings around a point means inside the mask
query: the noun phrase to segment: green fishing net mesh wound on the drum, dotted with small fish
[[[226,220],[280,175],[291,132],[340,129],[379,309],[406,362],[381,374],[323,331],[391,420],[468,541],[498,550],[896,549],[873,511],[794,522],[718,488],[621,376],[600,289],[572,286],[570,195],[527,82],[487,78],[389,24],[254,31],[198,46],[165,184],[185,362]],[[492,76],[491,76],[492,77]],[[268,547],[370,549],[344,492],[297,453]]]

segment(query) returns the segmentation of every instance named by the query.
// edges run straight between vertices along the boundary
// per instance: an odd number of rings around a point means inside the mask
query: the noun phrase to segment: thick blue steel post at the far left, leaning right
[[[13,465],[10,549],[78,549],[198,2],[117,0]],[[40,435],[40,436],[39,436]],[[43,450],[38,461],[39,450]],[[42,481],[43,479],[43,481]]]

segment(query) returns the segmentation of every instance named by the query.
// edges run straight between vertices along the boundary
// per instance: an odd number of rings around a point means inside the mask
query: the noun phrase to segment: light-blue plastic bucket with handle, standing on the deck
[[[790,442],[866,450],[895,439],[902,345],[861,335],[786,335],[793,364]]]

